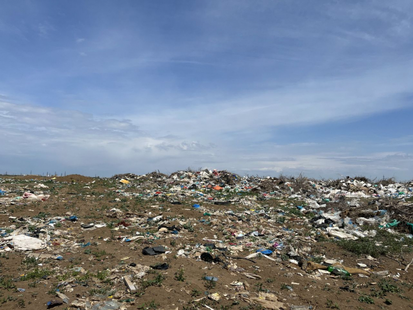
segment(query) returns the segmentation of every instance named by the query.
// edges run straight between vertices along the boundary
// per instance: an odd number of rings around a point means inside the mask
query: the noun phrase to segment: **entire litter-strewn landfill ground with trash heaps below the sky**
[[[0,177],[1,309],[409,309],[413,183]]]

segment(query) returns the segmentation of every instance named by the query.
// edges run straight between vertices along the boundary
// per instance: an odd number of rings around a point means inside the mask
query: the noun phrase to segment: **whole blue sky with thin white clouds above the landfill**
[[[413,178],[413,1],[1,1],[0,173]]]

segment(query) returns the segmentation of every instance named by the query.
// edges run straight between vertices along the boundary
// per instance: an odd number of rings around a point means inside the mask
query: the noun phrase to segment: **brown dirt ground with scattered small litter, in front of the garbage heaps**
[[[40,179],[48,189],[34,188]],[[0,188],[14,190],[0,198],[21,196],[30,190],[50,194],[47,201],[28,202],[21,199],[13,205],[0,205],[0,228],[10,229],[13,225],[13,229],[20,228],[34,235],[48,234],[48,247],[34,253],[63,257],[62,260],[33,260],[27,258],[27,251],[1,252],[0,308],[4,310],[47,309],[48,301],[61,301],[56,296],[56,290],[69,297],[69,304],[63,303],[53,309],[69,309],[70,303],[76,299],[96,304],[113,299],[114,294],[121,291],[124,294],[118,300],[123,301],[122,307],[125,309],[194,310],[207,309],[205,306],[208,306],[214,310],[255,310],[262,307],[257,303],[248,303],[248,298],[259,293],[275,294],[278,301],[284,303],[282,309],[290,309],[292,305],[311,305],[313,310],[413,309],[413,266],[404,271],[406,264],[413,259],[408,247],[401,256],[397,253],[368,260],[363,255],[345,250],[332,240],[315,241],[319,234],[309,221],[294,216],[284,223],[274,220],[286,200],[257,200],[259,207],[253,209],[265,210],[270,215],[268,218],[256,212],[244,213],[250,211],[248,206],[214,205],[213,201],[200,203],[194,197],[168,195],[166,189],[156,194],[154,190],[149,192],[149,189],[125,186],[118,179],[72,175],[51,180],[25,176],[3,182]],[[137,195],[127,196],[124,193]],[[150,197],[147,197],[148,193],[151,193]],[[172,199],[179,200],[181,204],[172,204]],[[193,204],[200,204],[202,210],[192,207]],[[242,219],[236,216],[240,214]],[[71,222],[66,219],[57,221],[54,227],[49,225],[54,217],[68,218],[71,215],[76,215],[78,220]],[[163,217],[161,222],[148,221],[159,215]],[[103,223],[106,226],[93,230],[82,227],[89,223]],[[159,223],[169,227],[176,225],[180,228],[179,233],[159,231],[162,228]],[[237,239],[239,231],[244,234],[253,231],[263,233]],[[131,242],[122,241],[123,237],[130,238],[137,233],[143,237]],[[227,249],[225,252],[213,246],[206,248],[202,245],[219,245],[220,242],[205,239],[224,241],[223,248],[232,246],[235,250]],[[305,271],[290,261],[291,258],[286,256],[290,250],[288,246],[274,250],[271,257],[275,260],[258,257],[252,258],[255,261],[252,262],[221,255],[220,258],[229,264],[226,268],[222,262],[206,262],[197,256],[209,252],[213,256],[227,253],[228,256],[245,258],[256,251],[258,244],[269,248],[274,240],[292,245],[295,249],[304,249],[309,253],[309,256],[302,258],[304,260],[317,260],[324,256],[342,261],[344,266],[352,268],[360,268],[357,263],[364,263],[370,276],[317,276],[316,271]],[[88,242],[90,245],[87,245]],[[165,246],[171,252],[155,256],[142,254],[144,247],[157,245]],[[181,249],[189,255],[178,254]],[[169,269],[150,268],[142,278],[138,278],[130,269],[131,263],[143,266],[167,263]],[[87,274],[73,271],[76,267],[82,267]],[[371,273],[382,271],[388,271],[388,276]],[[257,278],[247,277],[245,273]],[[126,275],[134,276],[132,281],[138,287],[137,293],[125,292],[122,276]],[[217,277],[218,280],[207,281],[205,276]],[[242,282],[242,285],[231,285],[233,282]],[[19,292],[17,288],[25,291]],[[208,298],[213,293],[219,293],[220,300]],[[202,297],[205,298],[193,302]]]

